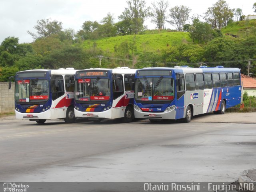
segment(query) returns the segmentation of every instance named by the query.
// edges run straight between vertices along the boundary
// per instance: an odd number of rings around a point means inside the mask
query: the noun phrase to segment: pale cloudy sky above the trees
[[[157,0],[146,0],[146,6]],[[203,15],[217,0],[178,0],[170,1],[169,8],[187,6],[193,14]],[[256,0],[226,0],[230,8],[241,8],[244,15],[256,14],[252,5]],[[51,18],[62,22],[64,29],[72,28],[77,32],[86,20],[100,22],[110,12],[115,22],[127,7],[126,0],[1,0],[0,6],[0,43],[9,37],[19,38],[19,43],[33,42],[27,31],[36,32],[38,20]],[[168,11],[169,12],[169,11]],[[151,19],[144,23],[154,29]],[[191,21],[190,21],[191,22]],[[165,24],[166,28],[173,28]]]

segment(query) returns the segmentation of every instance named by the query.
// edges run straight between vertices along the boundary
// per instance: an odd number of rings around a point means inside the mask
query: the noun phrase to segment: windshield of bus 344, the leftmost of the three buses
[[[49,81],[44,79],[17,80],[15,82],[16,102],[43,102],[49,98]]]

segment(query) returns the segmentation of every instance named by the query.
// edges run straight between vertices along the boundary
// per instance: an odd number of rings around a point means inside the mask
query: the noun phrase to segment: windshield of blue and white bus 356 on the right
[[[164,101],[174,99],[173,78],[138,78],[135,82],[135,99],[141,101]]]

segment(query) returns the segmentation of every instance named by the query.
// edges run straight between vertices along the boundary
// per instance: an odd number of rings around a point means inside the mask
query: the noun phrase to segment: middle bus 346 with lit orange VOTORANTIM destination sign
[[[74,112],[93,121],[134,119],[134,74],[128,67],[78,70],[75,75]]]

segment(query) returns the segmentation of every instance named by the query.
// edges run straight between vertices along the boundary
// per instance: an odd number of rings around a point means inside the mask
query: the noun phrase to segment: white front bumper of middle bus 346
[[[110,109],[112,110],[112,109]],[[103,112],[85,112],[85,111],[78,111],[74,109],[76,117],[87,117],[87,118],[108,118],[112,119],[112,112],[110,110],[106,110]]]

